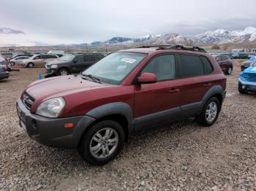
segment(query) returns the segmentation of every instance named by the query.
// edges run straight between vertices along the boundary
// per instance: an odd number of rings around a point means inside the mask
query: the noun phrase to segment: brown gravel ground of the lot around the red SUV
[[[213,126],[188,119],[142,132],[103,167],[39,145],[19,127],[15,100],[39,71],[0,82],[0,190],[256,190],[256,96],[238,93],[239,68],[227,76]]]

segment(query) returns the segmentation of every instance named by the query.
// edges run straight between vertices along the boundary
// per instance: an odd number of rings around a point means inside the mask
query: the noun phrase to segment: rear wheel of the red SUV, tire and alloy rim
[[[216,122],[219,117],[221,105],[219,99],[216,97],[208,99],[203,106],[203,110],[199,116],[197,116],[197,122],[203,126],[211,126]]]

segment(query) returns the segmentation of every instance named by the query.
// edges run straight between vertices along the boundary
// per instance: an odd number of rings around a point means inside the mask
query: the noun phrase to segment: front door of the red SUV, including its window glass
[[[170,117],[175,118],[179,111],[179,90],[175,82],[176,56],[155,56],[140,71],[140,74],[143,73],[155,74],[157,82],[135,85],[135,130],[166,122]]]

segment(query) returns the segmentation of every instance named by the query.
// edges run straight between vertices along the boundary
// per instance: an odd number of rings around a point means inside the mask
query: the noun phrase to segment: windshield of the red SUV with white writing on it
[[[145,57],[142,53],[115,52],[83,71],[82,75],[92,75],[100,82],[118,85]]]

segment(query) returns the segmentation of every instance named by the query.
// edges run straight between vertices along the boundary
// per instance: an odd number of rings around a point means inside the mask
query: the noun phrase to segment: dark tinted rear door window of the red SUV
[[[179,55],[180,77],[195,77],[204,74],[203,63],[197,55]]]

